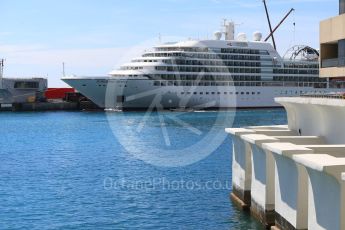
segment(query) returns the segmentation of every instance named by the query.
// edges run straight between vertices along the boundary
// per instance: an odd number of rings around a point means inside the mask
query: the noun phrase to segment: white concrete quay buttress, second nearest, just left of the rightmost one
[[[313,150],[292,143],[265,143],[263,148],[273,154],[275,162],[276,225],[292,229],[308,226],[308,177],[306,169],[292,157],[313,153]]]

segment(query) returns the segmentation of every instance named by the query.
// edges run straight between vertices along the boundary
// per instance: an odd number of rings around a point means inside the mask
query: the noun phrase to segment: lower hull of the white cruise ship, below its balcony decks
[[[275,97],[326,93],[329,89],[278,86],[155,86],[145,79],[65,78],[99,107],[123,110],[281,107]]]

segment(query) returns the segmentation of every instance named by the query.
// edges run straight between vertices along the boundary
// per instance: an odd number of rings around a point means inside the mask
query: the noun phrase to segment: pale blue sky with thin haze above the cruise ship
[[[319,47],[319,22],[338,0],[267,0],[281,55],[292,45]],[[0,0],[0,58],[5,77],[106,76],[159,42],[213,38],[222,20],[236,34],[269,34],[262,0]],[[293,23],[295,22],[295,26]]]

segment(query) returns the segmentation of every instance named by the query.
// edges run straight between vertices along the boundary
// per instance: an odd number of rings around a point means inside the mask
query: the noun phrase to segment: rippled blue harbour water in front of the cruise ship
[[[197,138],[169,119],[162,131],[157,113],[139,137],[132,136],[128,130],[144,115],[0,113],[0,229],[261,229],[228,199],[229,137],[192,165],[155,166],[124,146],[147,152],[161,146],[163,154]],[[215,118],[229,115],[234,112],[180,119],[194,132],[211,126],[224,132]],[[283,110],[245,110],[237,112],[234,126],[284,123]]]

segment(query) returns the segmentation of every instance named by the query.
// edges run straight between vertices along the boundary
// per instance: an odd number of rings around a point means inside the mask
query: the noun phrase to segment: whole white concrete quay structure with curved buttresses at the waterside
[[[287,110],[287,126],[225,130],[232,201],[267,229],[345,230],[345,100],[276,101]]]

